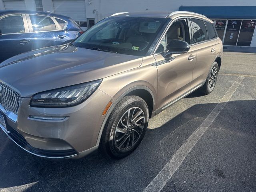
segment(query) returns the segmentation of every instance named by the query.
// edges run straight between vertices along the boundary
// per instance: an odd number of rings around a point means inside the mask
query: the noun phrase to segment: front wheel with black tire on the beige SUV
[[[142,141],[148,127],[148,106],[138,96],[125,96],[112,110],[100,140],[107,157],[124,158]]]

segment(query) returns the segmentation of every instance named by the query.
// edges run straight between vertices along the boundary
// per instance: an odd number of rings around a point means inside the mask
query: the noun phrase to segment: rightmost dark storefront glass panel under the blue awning
[[[243,20],[237,46],[250,46],[254,33],[256,20]]]

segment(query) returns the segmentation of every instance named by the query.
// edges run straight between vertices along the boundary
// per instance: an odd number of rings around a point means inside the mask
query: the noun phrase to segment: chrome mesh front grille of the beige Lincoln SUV
[[[0,83],[0,104],[5,110],[18,115],[20,108],[20,94],[10,87]]]

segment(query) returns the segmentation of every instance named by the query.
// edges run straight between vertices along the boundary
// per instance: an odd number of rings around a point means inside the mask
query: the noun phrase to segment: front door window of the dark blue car
[[[0,20],[0,29],[2,34],[24,33],[24,23],[22,15],[12,15]]]

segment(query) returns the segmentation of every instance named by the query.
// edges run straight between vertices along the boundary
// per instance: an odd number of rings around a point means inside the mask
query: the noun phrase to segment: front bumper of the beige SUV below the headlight
[[[102,112],[111,99],[96,90],[77,106],[34,108],[29,106],[30,98],[22,98],[18,116],[0,105],[7,129],[0,127],[18,146],[36,156],[81,158],[98,148],[96,142],[105,117]]]

